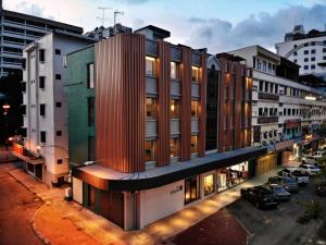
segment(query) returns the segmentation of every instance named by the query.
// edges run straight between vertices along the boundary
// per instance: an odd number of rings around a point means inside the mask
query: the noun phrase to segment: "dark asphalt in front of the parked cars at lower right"
[[[227,209],[252,233],[250,245],[300,245],[315,233],[317,222],[303,225],[296,219],[303,213],[297,200],[319,199],[326,207],[326,198],[315,195],[312,184],[301,187],[290,201],[280,203],[277,209],[260,210],[247,200],[239,199]]]

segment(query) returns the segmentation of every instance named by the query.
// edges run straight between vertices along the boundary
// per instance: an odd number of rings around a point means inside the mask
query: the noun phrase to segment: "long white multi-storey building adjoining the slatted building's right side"
[[[259,167],[260,172],[275,168],[289,158],[299,157],[299,144],[317,147],[318,136],[303,140],[302,136],[316,133],[325,122],[326,101],[321,91],[299,83],[300,66],[260,46],[230,51],[247,60],[253,69],[252,142],[266,145],[276,152],[271,161]],[[293,146],[296,146],[293,148]],[[287,155],[277,159],[277,156]]]

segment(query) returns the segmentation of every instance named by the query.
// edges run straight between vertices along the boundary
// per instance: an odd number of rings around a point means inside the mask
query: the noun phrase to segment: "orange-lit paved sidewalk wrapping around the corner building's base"
[[[254,177],[231,189],[214,195],[175,215],[156,221],[141,231],[125,232],[75,201],[63,199],[64,189],[47,189],[23,170],[10,171],[16,180],[35,192],[46,205],[35,213],[35,230],[51,244],[162,244],[185,229],[215,213],[240,197],[241,187],[265,183],[277,170]],[[83,237],[83,240],[79,240]],[[82,243],[88,241],[88,243]]]

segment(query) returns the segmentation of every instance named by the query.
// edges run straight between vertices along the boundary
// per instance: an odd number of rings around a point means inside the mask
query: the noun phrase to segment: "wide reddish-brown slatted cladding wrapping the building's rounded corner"
[[[145,36],[96,44],[97,161],[121,172],[145,170]]]

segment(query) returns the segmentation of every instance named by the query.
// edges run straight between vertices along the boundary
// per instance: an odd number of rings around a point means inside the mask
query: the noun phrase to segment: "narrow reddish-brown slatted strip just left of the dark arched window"
[[[198,135],[198,155],[203,157],[205,154],[205,132],[206,132],[206,59],[205,52],[201,53],[201,74],[200,74],[200,118]]]

